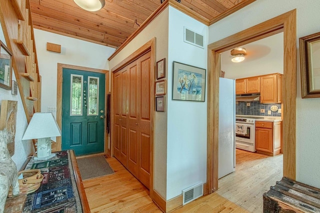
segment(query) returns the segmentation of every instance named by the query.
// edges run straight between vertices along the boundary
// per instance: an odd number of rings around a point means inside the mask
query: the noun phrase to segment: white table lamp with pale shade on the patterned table
[[[51,153],[51,137],[61,136],[61,131],[49,113],[34,113],[22,140],[37,139],[34,160],[47,160],[55,156]]]

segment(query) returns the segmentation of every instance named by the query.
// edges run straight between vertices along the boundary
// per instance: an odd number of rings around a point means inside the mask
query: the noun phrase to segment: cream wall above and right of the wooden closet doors
[[[110,69],[132,54],[135,50],[155,37],[155,61],[162,58],[168,59],[168,8],[164,9],[151,23],[149,23],[130,43],[128,43],[109,62]],[[154,62],[155,62],[154,61]],[[166,60],[167,61],[167,60]],[[171,65],[166,62],[166,68]],[[169,73],[166,73],[166,78]],[[162,80],[162,79],[161,79]],[[167,87],[169,88],[169,87]],[[167,89],[167,94],[170,89]],[[165,97],[167,102],[168,96]],[[165,106],[165,109],[167,107]],[[153,188],[164,199],[166,198],[166,129],[167,110],[165,112],[154,112],[154,176]]]

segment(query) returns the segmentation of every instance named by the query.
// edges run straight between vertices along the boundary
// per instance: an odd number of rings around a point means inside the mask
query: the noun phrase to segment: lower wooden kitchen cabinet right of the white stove
[[[257,153],[274,156],[281,151],[282,121],[255,121],[255,149]]]

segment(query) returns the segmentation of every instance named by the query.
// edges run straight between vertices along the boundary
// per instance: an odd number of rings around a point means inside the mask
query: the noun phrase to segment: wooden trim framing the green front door
[[[105,93],[104,93],[105,100],[107,98],[107,94],[109,90],[109,71],[108,70],[94,69],[89,67],[58,63],[57,64],[57,83],[56,83],[56,122],[60,127],[60,129],[62,129],[62,70],[63,68],[84,70],[88,72],[104,73],[105,74]],[[106,113],[106,105],[104,106],[104,112]],[[105,122],[104,122],[104,125],[106,125]],[[56,143],[52,143],[52,151],[54,152],[61,151],[61,145],[62,145],[61,136],[56,137]],[[108,152],[107,149],[108,149],[108,134],[104,128],[104,154],[107,154]]]

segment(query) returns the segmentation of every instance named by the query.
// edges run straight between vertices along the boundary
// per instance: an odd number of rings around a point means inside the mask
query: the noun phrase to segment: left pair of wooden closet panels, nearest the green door
[[[113,154],[127,167],[127,67],[113,76]]]

